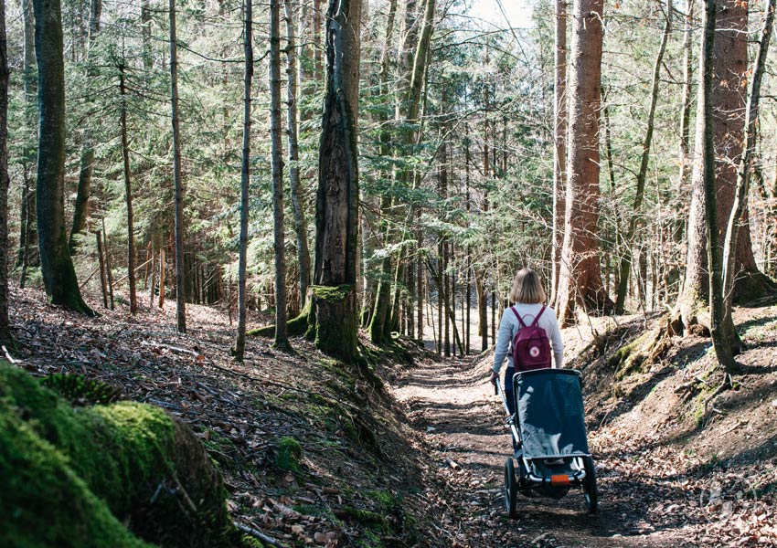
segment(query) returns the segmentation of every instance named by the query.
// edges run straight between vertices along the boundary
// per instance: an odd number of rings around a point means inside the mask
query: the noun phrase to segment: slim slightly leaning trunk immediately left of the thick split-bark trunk
[[[294,230],[297,235],[297,261],[300,266],[300,306],[304,308],[307,289],[310,286],[310,247],[307,241],[307,221],[304,206],[300,201],[299,143],[297,139],[297,82],[300,75],[297,70],[296,41],[294,37],[294,18],[291,0],[284,0],[286,17],[286,134],[289,137],[289,182],[291,184]]]

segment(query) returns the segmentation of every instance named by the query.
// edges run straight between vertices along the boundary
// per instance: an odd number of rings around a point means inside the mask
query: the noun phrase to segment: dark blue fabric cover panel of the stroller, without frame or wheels
[[[518,431],[527,458],[588,455],[580,374],[537,369],[513,377]]]

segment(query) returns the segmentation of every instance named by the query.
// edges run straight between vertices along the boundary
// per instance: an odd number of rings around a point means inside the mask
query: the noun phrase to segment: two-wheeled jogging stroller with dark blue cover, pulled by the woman
[[[570,369],[535,369],[513,375],[516,414],[509,407],[499,379],[496,392],[507,413],[506,424],[516,441],[515,458],[505,463],[505,502],[517,519],[517,493],[561,499],[580,487],[591,513],[598,506],[596,473],[588,450],[580,373]]]

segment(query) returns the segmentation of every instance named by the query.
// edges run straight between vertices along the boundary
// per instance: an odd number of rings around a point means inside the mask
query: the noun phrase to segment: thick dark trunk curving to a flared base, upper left
[[[65,67],[59,0],[35,0],[38,154],[37,239],[43,283],[52,304],[87,315],[65,235]]]

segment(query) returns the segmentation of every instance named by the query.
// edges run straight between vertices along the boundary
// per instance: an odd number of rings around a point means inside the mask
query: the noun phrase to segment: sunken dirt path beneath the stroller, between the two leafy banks
[[[488,368],[489,356],[427,362],[406,370],[394,387],[411,425],[426,437],[431,457],[448,479],[452,495],[447,502],[455,517],[444,525],[456,532],[456,546],[697,545],[686,542],[678,522],[664,531],[644,522],[646,499],[662,496],[663,487],[644,481],[630,485],[632,479],[614,472],[626,457],[612,452],[594,451],[598,514],[589,514],[582,492],[572,490],[559,501],[519,495],[520,517],[510,521],[503,495],[510,441],[504,410],[486,381]]]

